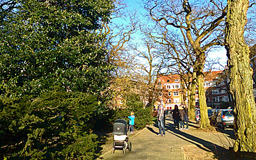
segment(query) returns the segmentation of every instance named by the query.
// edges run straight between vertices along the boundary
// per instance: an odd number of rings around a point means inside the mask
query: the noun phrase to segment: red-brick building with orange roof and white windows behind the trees
[[[209,71],[205,74],[205,95],[207,106],[211,108],[227,108],[230,106],[230,96],[227,94],[227,86],[223,77],[223,71]],[[175,104],[187,104],[186,85],[182,85],[179,74],[162,75],[158,79],[159,97],[166,109],[174,109]],[[186,82],[187,83],[187,82]],[[198,90],[195,93],[195,105],[199,106]]]

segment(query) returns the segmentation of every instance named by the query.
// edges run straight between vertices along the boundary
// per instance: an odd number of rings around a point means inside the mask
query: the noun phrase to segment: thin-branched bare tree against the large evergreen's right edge
[[[110,89],[113,90],[113,103],[118,99],[118,104],[112,105],[125,106],[126,95],[134,90],[137,85],[134,80],[140,77],[136,72],[138,66],[135,55],[129,51],[129,43],[132,35],[136,33],[138,18],[136,18],[136,10],[127,11],[127,5],[123,0],[115,1],[114,4],[115,9],[110,23],[102,22],[101,33],[106,35],[106,45],[109,49],[106,59],[113,66]]]

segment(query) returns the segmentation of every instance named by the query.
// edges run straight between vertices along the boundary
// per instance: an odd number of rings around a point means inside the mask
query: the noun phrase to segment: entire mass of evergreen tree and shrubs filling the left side
[[[112,69],[101,23],[112,9],[112,0],[19,0],[0,10],[1,155],[95,157]]]

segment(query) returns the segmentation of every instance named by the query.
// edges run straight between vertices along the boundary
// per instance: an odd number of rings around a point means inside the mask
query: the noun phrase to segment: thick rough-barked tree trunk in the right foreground
[[[248,0],[227,0],[225,47],[230,70],[230,92],[234,99],[235,152],[256,152],[253,72],[249,65],[250,50],[243,38],[248,3]]]

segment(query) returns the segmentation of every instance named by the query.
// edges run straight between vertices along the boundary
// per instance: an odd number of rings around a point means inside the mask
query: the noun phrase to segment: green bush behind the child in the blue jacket
[[[125,119],[129,122],[128,116],[131,115],[131,111],[134,111],[136,129],[142,129],[152,121],[150,107],[144,109],[139,96],[132,93],[127,97],[127,107],[125,109],[117,109],[115,111],[113,122],[119,118]]]

